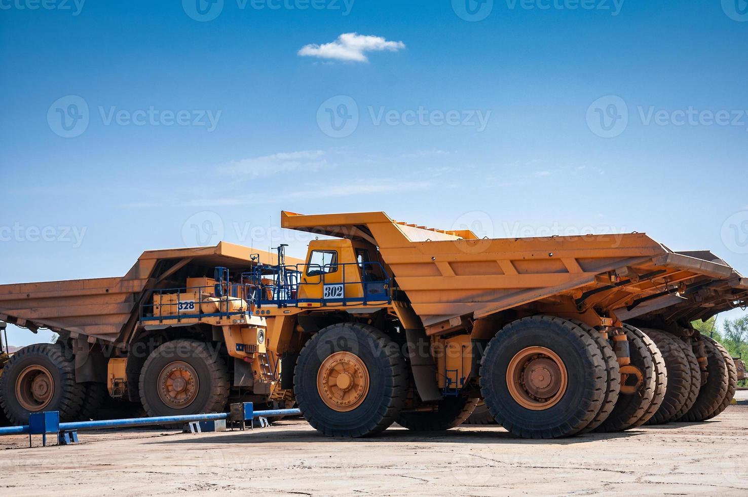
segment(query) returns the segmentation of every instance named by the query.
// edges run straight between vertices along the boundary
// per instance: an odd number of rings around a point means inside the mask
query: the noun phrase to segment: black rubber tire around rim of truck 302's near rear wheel
[[[557,354],[568,377],[565,392],[542,410],[522,406],[507,382],[509,363],[529,347]],[[560,317],[524,317],[504,326],[488,342],[480,387],[491,415],[510,433],[551,439],[574,435],[595,418],[605,397],[607,371],[598,345],[579,326]]]

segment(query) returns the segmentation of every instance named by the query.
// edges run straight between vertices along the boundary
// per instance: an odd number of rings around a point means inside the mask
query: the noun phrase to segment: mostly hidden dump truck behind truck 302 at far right
[[[678,254],[728,266],[710,251]],[[729,275],[701,277],[684,291],[663,285],[660,292],[615,309],[625,326],[636,327],[654,341],[665,363],[667,384],[660,389],[663,399],[647,424],[703,421],[729,405],[738,380],[744,379],[744,362],[732,358],[711,337],[700,335],[691,323],[747,305],[748,278],[732,270]],[[492,424],[494,419],[481,402],[466,422]]]

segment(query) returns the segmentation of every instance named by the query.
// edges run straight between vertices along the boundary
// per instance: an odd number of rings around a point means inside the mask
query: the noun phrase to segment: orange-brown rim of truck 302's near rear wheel
[[[520,350],[506,369],[509,394],[521,406],[542,411],[555,406],[566,391],[568,374],[557,353],[545,347]]]

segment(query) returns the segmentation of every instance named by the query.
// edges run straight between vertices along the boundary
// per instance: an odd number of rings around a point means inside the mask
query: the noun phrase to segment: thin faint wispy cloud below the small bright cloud
[[[322,150],[274,153],[269,156],[231,161],[218,167],[227,174],[242,174],[251,177],[268,177],[289,171],[319,171],[328,165]]]

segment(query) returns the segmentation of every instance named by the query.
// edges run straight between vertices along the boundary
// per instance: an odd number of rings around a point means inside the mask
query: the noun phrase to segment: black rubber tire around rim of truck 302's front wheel
[[[366,396],[352,410],[333,409],[317,388],[322,363],[349,353],[363,363]],[[294,392],[304,418],[320,433],[336,437],[372,436],[393,424],[408,395],[408,371],[400,348],[373,326],[340,323],[316,333],[301,349],[294,370]]]

